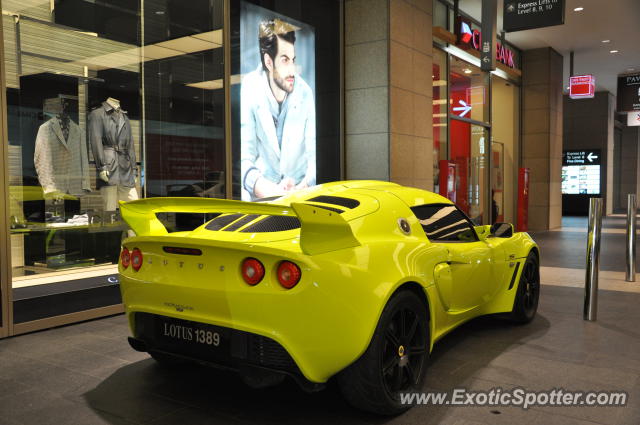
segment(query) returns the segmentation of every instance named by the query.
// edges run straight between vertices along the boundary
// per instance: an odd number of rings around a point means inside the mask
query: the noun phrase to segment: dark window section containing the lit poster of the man
[[[233,197],[339,180],[340,1],[234,1],[231,46]]]

